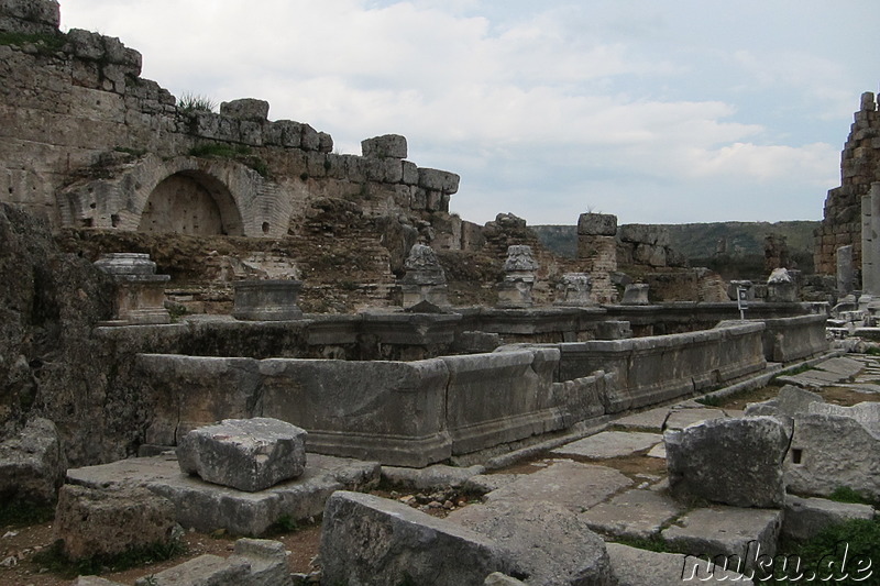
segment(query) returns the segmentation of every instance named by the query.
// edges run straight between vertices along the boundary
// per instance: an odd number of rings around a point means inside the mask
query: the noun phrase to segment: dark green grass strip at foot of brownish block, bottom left
[[[48,572],[65,579],[77,576],[97,576],[108,572],[122,572],[156,562],[164,562],[186,553],[186,544],[175,539],[168,543],[154,543],[144,548],[135,548],[119,555],[95,555],[85,560],[68,560],[62,550],[63,541],[56,541],[34,554],[33,561]]]

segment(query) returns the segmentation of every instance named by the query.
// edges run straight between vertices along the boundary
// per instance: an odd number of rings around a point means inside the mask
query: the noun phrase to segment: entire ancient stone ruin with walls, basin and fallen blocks
[[[459,176],[402,135],[339,154],[58,22],[0,0],[0,497],[51,508],[62,557],[195,533],[243,539],[127,583],[724,582],[873,517],[823,498],[880,498],[880,365],[840,357],[880,308],[872,96],[820,236],[829,323],[781,242],[727,283],[587,212],[565,258],[510,213],[450,213]],[[825,400],[842,388],[867,400]],[[292,572],[252,538],[297,523],[317,557]],[[28,563],[0,557],[0,582]]]

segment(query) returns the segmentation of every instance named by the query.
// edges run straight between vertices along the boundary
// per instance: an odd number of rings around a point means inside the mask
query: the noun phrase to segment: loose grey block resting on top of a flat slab
[[[183,472],[253,493],[302,474],[306,435],[277,419],[226,419],[190,431],[176,452]]]

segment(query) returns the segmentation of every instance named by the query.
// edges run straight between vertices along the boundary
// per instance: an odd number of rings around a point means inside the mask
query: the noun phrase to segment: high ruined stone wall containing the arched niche
[[[448,213],[459,176],[406,161],[403,136],[342,155],[309,124],[270,121],[261,100],[186,108],[140,77],[140,53],[118,38],[57,26],[54,0],[0,0],[0,32],[32,35],[0,45],[0,201],[54,229],[167,229],[150,197],[175,178],[201,219],[172,225],[178,233],[278,237],[302,224],[310,201],[341,198],[403,214],[436,247],[460,246]]]

